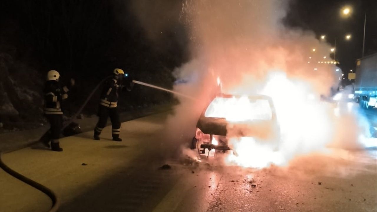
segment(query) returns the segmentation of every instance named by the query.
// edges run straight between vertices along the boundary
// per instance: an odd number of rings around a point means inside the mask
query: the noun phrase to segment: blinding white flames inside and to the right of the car
[[[260,93],[273,100],[281,136],[273,142],[253,137],[228,137],[228,145],[237,156],[227,155],[227,164],[256,168],[270,164],[282,166],[298,155],[325,152],[333,138],[336,116],[329,104],[314,98],[316,92],[305,81],[291,80],[283,72],[271,72]],[[271,107],[268,101],[251,102],[247,96],[218,97],[208,106],[205,116],[223,117],[230,122],[269,120]]]

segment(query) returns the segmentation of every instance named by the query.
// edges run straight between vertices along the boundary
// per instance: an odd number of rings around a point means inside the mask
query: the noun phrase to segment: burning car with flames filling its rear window
[[[252,137],[277,148],[280,129],[270,97],[217,95],[198,120],[191,148],[198,149],[199,154],[205,154],[205,149],[208,154],[233,150],[229,140],[234,137]]]

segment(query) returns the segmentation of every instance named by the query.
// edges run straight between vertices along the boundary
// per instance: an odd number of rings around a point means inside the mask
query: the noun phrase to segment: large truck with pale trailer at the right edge
[[[361,108],[377,108],[377,53],[356,61],[354,99]]]

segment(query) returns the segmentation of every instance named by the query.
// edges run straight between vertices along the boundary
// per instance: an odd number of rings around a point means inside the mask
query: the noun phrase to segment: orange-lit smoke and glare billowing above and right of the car
[[[331,58],[331,46],[311,31],[284,26],[288,3],[187,0],[180,5],[179,16],[169,16],[185,26],[192,57],[173,72],[177,81],[186,82],[176,84],[174,91],[197,98],[192,101],[177,96],[180,104],[168,117],[164,131],[164,140],[173,147],[169,151],[179,149],[195,136],[201,112],[218,92],[218,78],[224,93],[271,96],[282,128],[281,152],[271,156],[275,161],[241,165],[285,164],[295,155],[321,151],[329,143],[338,142],[335,145],[339,146],[345,140],[357,140],[360,129],[355,128],[354,116],[343,123],[331,106],[319,100],[320,95],[329,95],[331,88],[339,84],[341,71],[336,71],[335,64],[321,63]],[[170,8],[159,9],[171,14]],[[156,32],[155,27],[169,25],[157,22],[151,28],[149,23],[145,26]],[[344,130],[348,137],[340,136]],[[233,143],[237,145],[247,149]]]

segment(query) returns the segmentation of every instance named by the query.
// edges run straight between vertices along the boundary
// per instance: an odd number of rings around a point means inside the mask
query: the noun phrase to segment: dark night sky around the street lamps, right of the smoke
[[[349,5],[352,13],[344,18],[341,8]],[[365,55],[377,52],[377,0],[293,0],[286,23],[312,30],[319,39],[326,35],[332,46],[336,39],[336,59],[344,73],[355,69],[362,56],[364,14],[366,13]],[[345,34],[352,39],[345,40]]]

